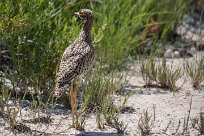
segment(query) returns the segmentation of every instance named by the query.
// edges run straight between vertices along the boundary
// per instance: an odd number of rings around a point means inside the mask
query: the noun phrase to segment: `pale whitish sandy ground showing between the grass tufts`
[[[204,54],[204,53],[203,53]],[[193,58],[189,58],[193,61]],[[183,59],[175,59],[174,65],[176,67],[183,66]],[[171,64],[172,59],[168,59],[167,63]],[[204,112],[204,83],[199,89],[191,87],[190,81],[186,76],[183,76],[177,82],[178,86],[182,85],[182,89],[178,93],[173,93],[169,90],[160,88],[143,88],[144,81],[139,71],[139,64],[135,61],[129,64],[129,71],[127,75],[128,84],[125,85],[125,90],[133,92],[126,103],[126,106],[135,109],[134,112],[120,114],[120,120],[127,124],[125,134],[137,136],[140,135],[138,130],[138,121],[145,110],[148,110],[152,115],[153,121],[152,136],[166,136],[166,135],[181,135],[183,131],[184,119],[188,116],[190,109],[190,102],[192,99],[192,108],[190,111],[190,118],[197,117],[199,113]],[[121,104],[123,102],[122,96],[115,96],[115,102]],[[22,109],[23,118],[28,119],[33,116],[29,108]],[[27,123],[33,130],[44,132],[42,135],[78,135],[78,136],[117,136],[114,128],[108,126],[100,130],[97,128],[95,115],[91,114],[85,120],[85,132],[76,131],[70,128],[71,112],[62,109],[53,109],[51,119],[53,122],[49,125],[31,124]],[[0,118],[1,119],[1,118]],[[2,120],[2,119],[1,119]],[[1,122],[0,120],[0,122]],[[179,121],[181,122],[178,128]],[[178,128],[177,133],[176,130]],[[189,122],[188,132],[190,136],[198,135],[198,131],[192,128]],[[0,123],[0,135],[14,135],[8,128],[7,123]],[[31,134],[17,134],[17,135],[31,135]],[[39,135],[38,132],[32,135]]]

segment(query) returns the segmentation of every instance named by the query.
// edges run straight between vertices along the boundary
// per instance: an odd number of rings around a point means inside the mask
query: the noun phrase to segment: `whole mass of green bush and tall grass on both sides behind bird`
[[[9,68],[19,85],[39,85],[43,92],[52,90],[60,56],[81,29],[81,22],[73,16],[80,8],[94,11],[92,32],[97,61],[110,70],[118,69],[128,55],[137,55],[145,35],[151,32],[147,29],[152,27],[152,20],[159,29],[157,39],[163,39],[184,13],[185,3],[185,0],[1,1],[0,69]]]

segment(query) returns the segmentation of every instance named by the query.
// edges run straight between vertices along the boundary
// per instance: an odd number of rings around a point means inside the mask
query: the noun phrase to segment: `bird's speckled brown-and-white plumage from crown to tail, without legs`
[[[83,18],[84,26],[78,38],[65,49],[62,55],[57,73],[56,95],[64,92],[74,79],[83,76],[90,70],[95,61],[95,49],[91,40],[93,15],[88,9],[82,9],[81,11],[86,15]]]

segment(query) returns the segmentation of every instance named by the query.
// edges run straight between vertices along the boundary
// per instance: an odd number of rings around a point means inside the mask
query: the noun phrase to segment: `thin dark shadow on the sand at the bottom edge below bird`
[[[107,133],[107,132],[84,132],[76,136],[125,136],[125,134]]]

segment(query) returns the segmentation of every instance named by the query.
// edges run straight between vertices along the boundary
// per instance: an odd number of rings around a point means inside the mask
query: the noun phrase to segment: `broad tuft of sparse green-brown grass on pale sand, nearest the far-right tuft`
[[[181,77],[181,68],[167,66],[166,59],[163,58],[160,64],[156,64],[156,57],[151,57],[141,61],[141,73],[147,87],[158,86],[161,88],[178,91],[176,81]]]

